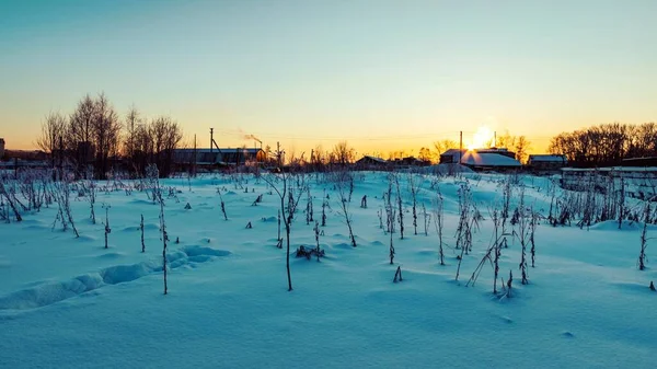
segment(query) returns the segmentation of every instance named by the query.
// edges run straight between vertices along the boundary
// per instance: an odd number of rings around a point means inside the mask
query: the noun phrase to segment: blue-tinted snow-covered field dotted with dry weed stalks
[[[626,222],[618,230],[618,222],[607,221],[587,230],[541,221],[529,285],[520,284],[520,245],[509,237],[500,276],[506,280],[514,272],[511,297],[494,296],[488,264],[474,286],[465,285],[491,245],[489,212],[500,203],[504,176],[416,177],[418,205],[427,211],[437,188],[445,197],[448,247],[441,266],[433,221],[425,235],[419,215],[414,234],[405,174],[400,176],[405,237],[393,234],[396,255],[390,265],[390,235],[378,217],[385,175],[356,174],[349,211],[357,247],[338,214],[334,184],[311,177],[315,220],[324,189],[330,197],[320,237],[325,257],[320,263],[293,257],[299,245],[315,243],[303,196],[291,227],[291,292],[286,250],[276,247],[280,199],[253,176],[239,183],[222,175],[162,181],[176,187],[177,197],[165,196],[166,296],[160,207],[145,192],[99,193],[96,224],[89,220],[89,203],[76,194],[78,239],[70,230],[53,230],[56,206],[2,223],[0,367],[655,367],[657,292],[648,285],[657,273],[650,264],[643,272],[636,267],[643,224]],[[484,220],[456,281],[463,181]],[[546,215],[549,181],[521,183],[526,204]],[[261,194],[263,201],[253,206]],[[367,208],[359,207],[364,195]],[[511,206],[517,201],[516,188]],[[108,249],[102,204],[111,205]],[[649,227],[648,237],[652,232]],[[649,245],[648,256],[653,252]],[[403,281],[394,284],[397,266]]]

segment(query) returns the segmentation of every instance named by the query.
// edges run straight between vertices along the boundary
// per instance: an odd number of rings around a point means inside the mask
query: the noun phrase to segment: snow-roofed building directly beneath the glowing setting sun
[[[509,171],[522,166],[515,157],[516,153],[507,149],[450,149],[440,154],[440,164],[460,163],[475,171]]]

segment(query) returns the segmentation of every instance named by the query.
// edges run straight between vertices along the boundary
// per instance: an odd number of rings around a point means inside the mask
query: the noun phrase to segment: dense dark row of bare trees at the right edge
[[[565,155],[575,166],[604,166],[623,159],[657,157],[657,125],[601,124],[552,138],[550,153]]]

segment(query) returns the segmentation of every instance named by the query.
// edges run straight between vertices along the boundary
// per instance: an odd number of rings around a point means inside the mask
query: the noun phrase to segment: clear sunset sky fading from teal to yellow
[[[0,137],[104,92],[189,139],[358,154],[485,126],[533,152],[657,120],[657,1],[0,1]]]

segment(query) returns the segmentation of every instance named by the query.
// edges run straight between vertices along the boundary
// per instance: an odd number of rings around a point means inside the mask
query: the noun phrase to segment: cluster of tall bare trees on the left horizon
[[[100,93],[83,96],[69,115],[48,114],[36,145],[50,155],[53,168],[72,166],[80,176],[105,180],[118,164],[141,176],[157,164],[168,176],[182,139],[182,128],[171,117],[147,119],[135,106],[122,117]]]

